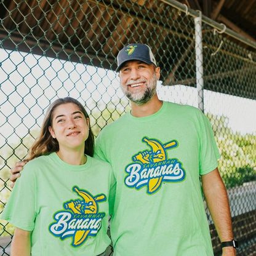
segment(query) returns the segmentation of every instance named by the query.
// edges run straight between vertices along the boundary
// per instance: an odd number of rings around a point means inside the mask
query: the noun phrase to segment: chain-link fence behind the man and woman
[[[26,156],[45,111],[71,96],[90,113],[95,135],[130,110],[115,57],[150,45],[162,100],[201,108],[222,154],[238,255],[256,255],[256,46],[176,1],[0,1],[0,212],[9,169]],[[207,213],[208,214],[208,213]],[[215,255],[220,242],[209,225]],[[14,228],[0,220],[2,255]],[[107,255],[112,254],[112,247]]]

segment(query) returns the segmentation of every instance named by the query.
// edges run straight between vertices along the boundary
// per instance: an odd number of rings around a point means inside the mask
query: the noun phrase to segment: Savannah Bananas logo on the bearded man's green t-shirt
[[[177,159],[168,159],[167,150],[177,148],[178,143],[172,140],[162,144],[154,138],[143,137],[142,142],[150,146],[151,150],[138,152],[132,156],[134,161],[126,167],[125,184],[129,188],[140,189],[147,186],[147,193],[153,194],[159,190],[162,182],[182,182],[185,170]]]

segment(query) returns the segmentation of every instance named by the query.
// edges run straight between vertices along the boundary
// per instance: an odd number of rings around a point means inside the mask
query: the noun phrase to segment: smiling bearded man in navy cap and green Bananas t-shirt
[[[111,163],[117,182],[114,255],[214,255],[201,188],[220,241],[226,242],[222,255],[236,255],[208,119],[191,106],[159,100],[160,68],[145,44],[124,47],[116,71],[131,111],[105,127],[95,145],[95,155]]]

